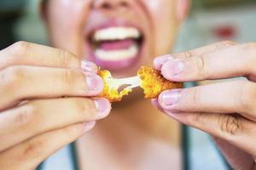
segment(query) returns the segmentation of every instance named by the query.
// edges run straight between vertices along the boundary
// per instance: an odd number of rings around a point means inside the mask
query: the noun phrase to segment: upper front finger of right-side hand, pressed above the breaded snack
[[[161,67],[174,82],[248,77],[256,80],[256,43],[248,42],[187,59],[172,59]]]

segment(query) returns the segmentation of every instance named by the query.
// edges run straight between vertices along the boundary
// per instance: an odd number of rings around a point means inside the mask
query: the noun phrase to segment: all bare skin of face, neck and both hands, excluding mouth
[[[85,60],[90,56],[83,42],[84,30],[95,17],[93,10],[103,10],[101,4],[106,2],[113,5],[122,0],[49,1],[42,13],[55,48],[17,42],[0,52],[1,169],[34,169],[108,116],[108,100],[93,98],[101,93],[102,80],[96,76],[96,65]],[[168,54],[188,9],[186,0],[125,2],[145,26],[146,42],[143,59],[126,69],[126,74],[113,72],[116,77],[134,75],[138,65],[150,65],[154,56]],[[104,16],[110,13],[105,12]],[[132,18],[126,13],[121,16]],[[166,91],[153,100],[160,111],[178,122],[212,134],[235,169],[255,168],[255,51],[253,42],[220,42],[154,59],[154,67],[172,81],[248,78]],[[90,77],[96,80],[93,89],[85,83]],[[179,124],[135,94],[113,105],[112,114],[79,139],[81,169],[101,165],[109,169],[181,168]],[[143,112],[137,114],[138,108]]]

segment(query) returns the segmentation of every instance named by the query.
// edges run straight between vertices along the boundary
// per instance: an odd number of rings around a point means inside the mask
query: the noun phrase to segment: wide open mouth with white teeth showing
[[[133,26],[108,26],[89,36],[90,56],[97,65],[120,70],[133,65],[143,47],[143,33]]]

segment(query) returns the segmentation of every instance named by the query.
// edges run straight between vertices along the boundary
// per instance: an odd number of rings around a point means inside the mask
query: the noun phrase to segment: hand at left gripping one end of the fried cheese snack
[[[108,116],[108,100],[92,98],[103,89],[96,71],[29,42],[0,51],[0,169],[34,169]]]

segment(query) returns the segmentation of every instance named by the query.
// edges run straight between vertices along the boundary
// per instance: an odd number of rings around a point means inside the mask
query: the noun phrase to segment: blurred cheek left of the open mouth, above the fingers
[[[49,4],[49,31],[56,48],[81,55],[83,48],[84,0],[55,0]]]

